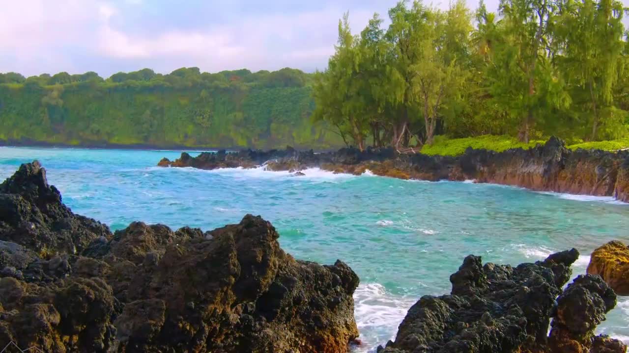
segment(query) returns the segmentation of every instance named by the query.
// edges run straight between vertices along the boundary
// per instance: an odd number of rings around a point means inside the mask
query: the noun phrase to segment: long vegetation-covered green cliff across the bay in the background
[[[312,74],[291,68],[167,75],[145,68],[25,78],[0,73],[0,141],[103,146],[334,148],[311,121]]]

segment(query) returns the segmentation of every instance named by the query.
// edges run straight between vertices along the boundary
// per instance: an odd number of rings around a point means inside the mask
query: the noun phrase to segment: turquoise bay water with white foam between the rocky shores
[[[179,152],[5,147],[0,179],[38,159],[65,204],[113,230],[133,220],[208,230],[247,213],[262,215],[296,258],[342,259],[359,274],[362,352],[391,339],[421,295],[449,293],[448,278],[467,254],[519,264],[576,247],[582,254],[576,275],[585,272],[595,247],[629,241],[629,205],[610,198],[321,170],[293,177],[156,167],[164,156],[172,160]],[[619,298],[599,332],[629,340],[629,297]]]

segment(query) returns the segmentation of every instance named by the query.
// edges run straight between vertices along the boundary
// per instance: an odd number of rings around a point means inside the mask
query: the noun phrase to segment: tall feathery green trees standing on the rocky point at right
[[[315,121],[348,143],[421,147],[435,136],[628,136],[627,9],[613,0],[500,0],[472,13],[415,1],[353,35],[347,14],[313,82]],[[426,149],[426,151],[429,148]]]

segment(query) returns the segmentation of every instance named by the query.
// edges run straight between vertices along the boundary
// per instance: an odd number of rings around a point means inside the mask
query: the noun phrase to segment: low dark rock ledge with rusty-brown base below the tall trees
[[[392,148],[359,151],[343,148],[336,152],[314,153],[293,148],[270,151],[242,150],[228,153],[204,152],[192,157],[182,153],[175,161],[163,158],[159,166],[216,168],[256,168],[298,173],[321,168],[334,173],[375,175],[418,180],[475,180],[537,191],[614,197],[629,202],[629,151],[609,152],[577,149],[552,137],[531,149],[503,152],[468,148],[459,157],[402,154]],[[298,175],[298,174],[297,174]]]

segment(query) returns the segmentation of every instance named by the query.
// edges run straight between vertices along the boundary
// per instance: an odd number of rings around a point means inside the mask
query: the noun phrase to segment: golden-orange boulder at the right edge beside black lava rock
[[[610,241],[594,250],[587,273],[603,277],[618,295],[629,295],[629,247]]]

